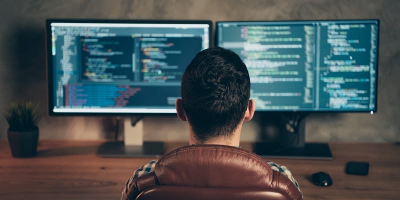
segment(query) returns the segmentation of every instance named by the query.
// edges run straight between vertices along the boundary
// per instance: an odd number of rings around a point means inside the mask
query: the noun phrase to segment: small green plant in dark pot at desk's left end
[[[12,156],[34,156],[39,139],[39,128],[33,103],[31,101],[11,103],[4,116],[9,125],[7,137]]]

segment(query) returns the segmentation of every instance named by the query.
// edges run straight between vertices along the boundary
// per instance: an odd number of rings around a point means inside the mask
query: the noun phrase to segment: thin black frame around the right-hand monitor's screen
[[[288,113],[288,112],[297,112],[297,113],[311,113],[311,112],[318,112],[318,113],[339,113],[339,112],[360,112],[360,113],[375,113],[377,112],[377,98],[378,98],[378,87],[377,87],[377,82],[378,82],[378,66],[379,66],[379,31],[380,31],[380,20],[378,18],[372,18],[372,19],[304,19],[304,20],[229,20],[229,21],[215,21],[215,33],[214,33],[214,46],[218,46],[218,29],[220,23],[279,23],[279,22],[333,22],[333,21],[376,21],[377,24],[377,39],[376,39],[376,77],[375,77],[375,106],[374,109],[367,109],[367,110],[315,110],[315,109],[309,109],[309,110],[295,110],[295,109],[290,109],[290,110],[282,110],[282,109],[269,109],[269,110],[257,110],[255,109],[255,112],[283,112],[283,113]]]

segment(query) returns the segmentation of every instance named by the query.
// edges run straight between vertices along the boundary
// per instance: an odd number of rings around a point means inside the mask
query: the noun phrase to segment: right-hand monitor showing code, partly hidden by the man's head
[[[258,111],[376,110],[378,20],[220,21]]]

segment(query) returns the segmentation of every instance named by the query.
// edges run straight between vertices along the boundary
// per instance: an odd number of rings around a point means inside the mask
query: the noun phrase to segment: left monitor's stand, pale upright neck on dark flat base
[[[164,154],[164,142],[143,141],[143,119],[132,124],[127,117],[123,121],[124,141],[106,141],[97,150],[99,157],[160,157]]]

